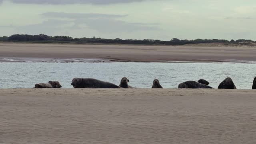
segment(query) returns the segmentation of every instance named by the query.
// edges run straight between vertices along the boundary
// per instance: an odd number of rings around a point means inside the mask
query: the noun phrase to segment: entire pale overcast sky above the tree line
[[[0,36],[256,40],[256,0],[0,0]]]

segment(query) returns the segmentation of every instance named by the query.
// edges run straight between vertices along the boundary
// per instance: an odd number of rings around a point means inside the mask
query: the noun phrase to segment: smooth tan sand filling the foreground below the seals
[[[0,143],[255,144],[255,90],[0,89]]]

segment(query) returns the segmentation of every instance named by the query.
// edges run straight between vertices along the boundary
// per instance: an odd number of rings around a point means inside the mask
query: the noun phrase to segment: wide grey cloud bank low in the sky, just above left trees
[[[47,34],[47,35],[69,35],[72,30],[86,32],[95,30],[100,34],[130,33],[138,31],[159,30],[156,26],[148,24],[133,24],[121,20],[98,18],[98,19],[76,19],[76,20],[46,20],[40,24],[25,26],[8,26],[16,29],[19,33],[26,34]]]

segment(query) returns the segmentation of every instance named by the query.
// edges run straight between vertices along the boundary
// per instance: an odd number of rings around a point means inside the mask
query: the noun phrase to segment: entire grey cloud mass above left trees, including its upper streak
[[[84,32],[93,30],[102,34],[160,30],[157,27],[158,23],[132,23],[116,19],[127,15],[62,12],[46,12],[40,15],[49,19],[39,24],[8,27],[20,33],[48,35],[68,35],[68,32],[74,30]]]

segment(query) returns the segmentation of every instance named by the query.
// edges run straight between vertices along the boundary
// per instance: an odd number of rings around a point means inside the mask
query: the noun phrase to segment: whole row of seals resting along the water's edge
[[[71,85],[74,88],[134,88],[128,85],[130,80],[126,77],[123,77],[120,81],[119,86],[116,84],[112,84],[110,82],[104,82],[101,80],[97,80],[94,78],[73,78]],[[212,88],[208,86],[210,84],[208,81],[204,79],[196,81],[186,81],[182,82],[178,85],[178,88]],[[36,84],[34,88],[61,88],[60,82],[58,81],[49,81],[48,83],[40,83]],[[158,79],[153,81],[152,88],[163,88],[160,85]],[[218,89],[236,89],[236,86],[232,80],[232,78],[228,77],[223,80]],[[256,89],[256,77],[253,80],[252,89]]]

